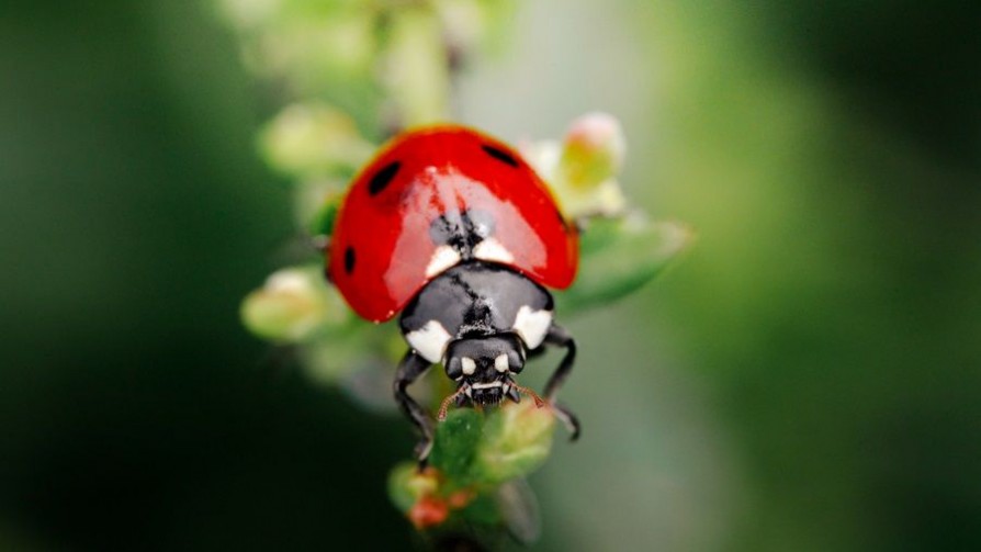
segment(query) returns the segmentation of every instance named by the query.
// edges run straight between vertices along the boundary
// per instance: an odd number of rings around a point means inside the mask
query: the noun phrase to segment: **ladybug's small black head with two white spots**
[[[515,334],[456,339],[447,348],[447,375],[458,382],[456,396],[474,404],[519,401],[521,388],[511,379],[525,368],[525,345]]]

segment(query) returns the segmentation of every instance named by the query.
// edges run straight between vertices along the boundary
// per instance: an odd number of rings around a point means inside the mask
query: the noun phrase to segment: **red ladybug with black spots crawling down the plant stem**
[[[432,423],[406,387],[441,363],[456,406],[497,405],[530,395],[548,402],[576,439],[578,420],[554,403],[576,356],[556,325],[549,288],[572,284],[578,229],[549,188],[504,143],[462,126],[395,137],[354,178],[338,212],[327,277],[361,317],[381,323],[401,313],[409,346],[395,374],[395,399],[422,433],[425,462]],[[544,399],[515,382],[545,345],[565,349]]]

